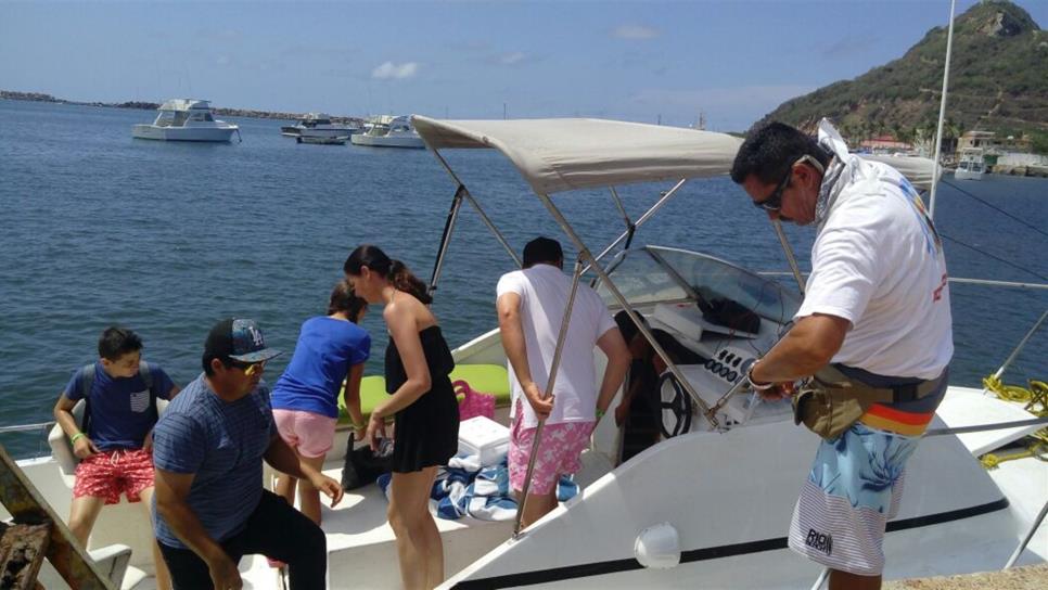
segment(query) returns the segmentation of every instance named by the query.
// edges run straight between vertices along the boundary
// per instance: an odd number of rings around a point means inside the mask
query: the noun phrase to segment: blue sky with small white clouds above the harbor
[[[1048,24],[1048,0],[1017,3]],[[707,129],[742,131],[948,16],[949,0],[0,0],[0,89],[357,116],[686,126],[703,113]]]

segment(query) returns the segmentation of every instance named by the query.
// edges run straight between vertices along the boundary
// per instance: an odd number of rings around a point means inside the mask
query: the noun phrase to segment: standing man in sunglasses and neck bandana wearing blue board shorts
[[[942,243],[909,181],[848,154],[825,119],[818,140],[781,123],[752,131],[731,179],[772,220],[817,232],[796,323],[753,364],[753,389],[790,396],[832,364],[887,392],[822,440],[790,529],[791,549],[830,568],[831,590],[880,588],[884,528],[954,352]]]

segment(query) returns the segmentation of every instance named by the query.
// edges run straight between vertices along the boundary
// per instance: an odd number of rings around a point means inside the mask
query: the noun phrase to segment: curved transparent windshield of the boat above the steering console
[[[724,260],[685,249],[646,246],[621,253],[611,265],[611,279],[631,305],[702,300],[734,302],[777,323],[785,323],[801,307],[801,298],[772,279]],[[616,302],[601,284],[598,293]]]

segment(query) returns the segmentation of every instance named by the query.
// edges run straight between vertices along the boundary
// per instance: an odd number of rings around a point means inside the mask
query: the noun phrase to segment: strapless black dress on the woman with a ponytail
[[[459,449],[459,402],[448,373],[455,369],[451,350],[440,326],[419,332],[430,369],[431,388],[395,418],[393,471],[410,473],[447,465]],[[397,345],[389,338],[385,358],[386,393],[393,394],[408,380]]]

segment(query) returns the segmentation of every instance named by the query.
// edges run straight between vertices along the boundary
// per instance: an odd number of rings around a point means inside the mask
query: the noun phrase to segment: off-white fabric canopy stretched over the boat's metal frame
[[[726,175],[742,145],[726,133],[605,119],[411,119],[434,150],[499,150],[540,194]],[[931,187],[931,159],[864,157],[895,166],[919,189]]]

